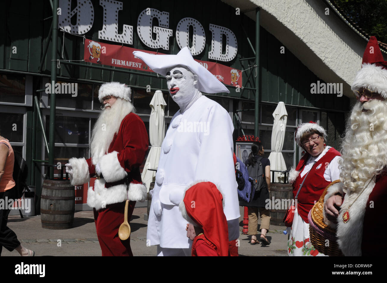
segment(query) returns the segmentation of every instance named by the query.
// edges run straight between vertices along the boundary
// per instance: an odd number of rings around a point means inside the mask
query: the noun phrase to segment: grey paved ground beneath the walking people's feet
[[[240,224],[243,220],[241,207]],[[147,221],[144,220],[146,207],[134,209],[130,227],[132,234],[130,245],[135,256],[154,256],[156,246],[146,246]],[[242,225],[242,224],[241,224]],[[50,230],[41,227],[40,216],[9,216],[8,226],[17,234],[23,246],[36,252],[36,256],[101,256],[92,211],[75,212],[74,227],[65,230]],[[240,227],[242,231],[242,226]],[[287,256],[287,236],[283,226],[271,225],[267,239],[268,246],[250,245],[247,235],[239,237],[240,256]],[[16,251],[9,252],[3,248],[2,256],[19,256]]]

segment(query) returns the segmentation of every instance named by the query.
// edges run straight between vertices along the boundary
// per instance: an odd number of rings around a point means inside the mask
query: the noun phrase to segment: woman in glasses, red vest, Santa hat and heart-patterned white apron
[[[293,184],[296,208],[289,233],[289,256],[324,256],[312,246],[309,237],[308,213],[322,195],[325,187],[339,179],[340,153],[327,146],[324,128],[310,121],[296,130],[296,141],[307,153],[296,169],[289,172],[289,183]]]

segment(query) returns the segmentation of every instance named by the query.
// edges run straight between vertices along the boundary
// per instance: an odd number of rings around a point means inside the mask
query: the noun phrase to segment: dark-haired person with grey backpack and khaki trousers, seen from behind
[[[245,163],[248,176],[255,193],[251,202],[241,200],[239,205],[248,207],[248,235],[251,235],[250,244],[259,244],[257,240],[258,213],[261,218],[259,230],[261,232],[260,241],[264,245],[269,245],[266,233],[270,226],[270,210],[265,209],[266,200],[270,199],[270,160],[263,157],[264,147],[262,142],[253,142],[251,153]]]

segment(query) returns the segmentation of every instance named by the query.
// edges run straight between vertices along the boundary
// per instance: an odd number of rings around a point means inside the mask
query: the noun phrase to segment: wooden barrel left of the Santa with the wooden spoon
[[[69,229],[73,226],[75,188],[69,180],[45,180],[40,201],[42,227]]]

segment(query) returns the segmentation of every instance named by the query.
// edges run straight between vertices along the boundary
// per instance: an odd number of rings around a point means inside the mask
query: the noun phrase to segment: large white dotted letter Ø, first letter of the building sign
[[[59,0],[58,27],[72,34],[86,34],[94,22],[94,7],[90,0],[77,1],[77,7],[71,11],[71,0]],[[77,14],[77,24],[71,24],[71,18]]]

